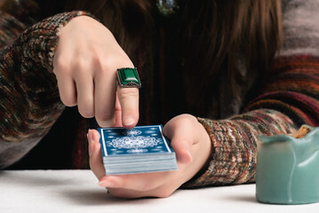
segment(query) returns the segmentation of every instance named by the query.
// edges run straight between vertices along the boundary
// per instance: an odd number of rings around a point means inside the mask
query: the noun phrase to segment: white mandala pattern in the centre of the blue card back
[[[162,139],[151,138],[149,136],[132,136],[112,139],[112,141],[108,141],[108,146],[131,149],[127,151],[128,153],[146,153],[148,149],[145,148],[157,146],[161,142]]]

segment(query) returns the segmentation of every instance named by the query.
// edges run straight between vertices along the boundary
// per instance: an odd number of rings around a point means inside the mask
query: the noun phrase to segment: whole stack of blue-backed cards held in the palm
[[[162,125],[100,128],[107,175],[177,170],[176,156],[163,136]]]

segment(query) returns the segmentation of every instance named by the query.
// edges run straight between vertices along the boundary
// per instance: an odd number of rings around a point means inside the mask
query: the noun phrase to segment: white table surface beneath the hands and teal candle
[[[178,190],[164,199],[117,199],[91,170],[0,171],[0,212],[318,212],[319,203],[269,205],[255,185]]]

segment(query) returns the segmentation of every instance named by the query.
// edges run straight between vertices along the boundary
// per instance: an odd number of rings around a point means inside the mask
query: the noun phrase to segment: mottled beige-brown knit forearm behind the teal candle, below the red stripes
[[[235,185],[253,182],[258,135],[287,134],[297,129],[290,118],[275,110],[259,109],[214,121],[198,118],[211,138],[209,163],[183,187]]]

